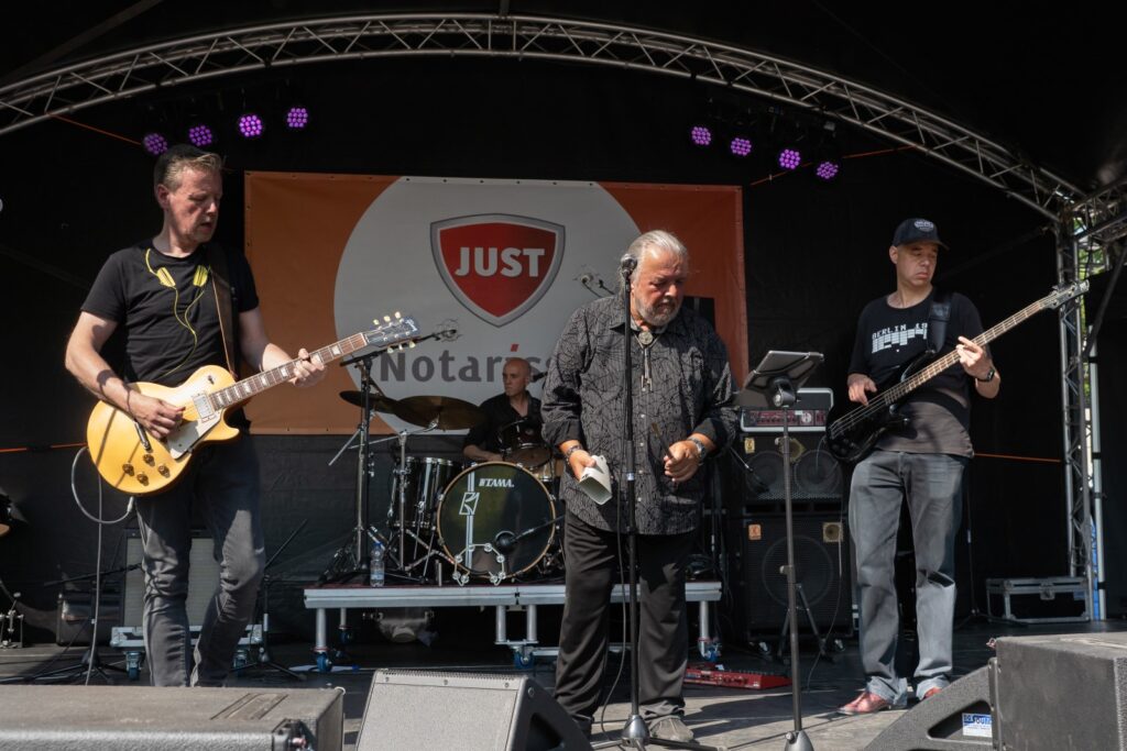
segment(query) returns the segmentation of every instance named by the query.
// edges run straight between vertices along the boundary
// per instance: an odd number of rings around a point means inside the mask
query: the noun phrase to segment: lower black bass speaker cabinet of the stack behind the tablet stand
[[[810,615],[798,599],[798,628],[809,631],[810,620],[824,635],[831,626],[852,622],[850,545],[838,513],[796,516],[795,575]],[[745,631],[762,634],[778,629],[787,617],[787,518],[782,515],[745,517],[736,526],[742,558],[738,599],[743,604]]]

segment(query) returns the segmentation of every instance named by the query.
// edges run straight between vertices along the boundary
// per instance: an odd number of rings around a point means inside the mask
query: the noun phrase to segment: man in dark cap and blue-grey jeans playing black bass
[[[939,249],[932,222],[909,218],[896,227],[888,256],[896,290],[869,303],[858,321],[848,378],[850,401],[895,383],[897,372],[929,350],[958,354],[958,364],[898,406],[903,426],[882,433],[858,463],[850,490],[850,534],[861,594],[861,660],[866,687],[841,712],[869,714],[907,701],[907,679],[896,674],[899,616],[894,558],[900,506],[912,518],[916,560],[920,663],[913,682],[924,699],[950,682],[955,619],[955,535],[961,516],[964,474],[973,449],[967,431],[971,385],[997,396],[1001,376],[990,352],[974,341],[982,322],[962,295],[937,295]],[[941,341],[937,341],[941,339]]]

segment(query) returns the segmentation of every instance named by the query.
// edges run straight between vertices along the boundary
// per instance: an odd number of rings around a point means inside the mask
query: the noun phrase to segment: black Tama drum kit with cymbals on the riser
[[[357,406],[363,396],[358,391],[340,393]],[[452,566],[451,578],[459,584],[562,575],[557,499],[565,463],[544,444],[535,423],[522,418],[498,431],[503,462],[463,465],[409,453],[407,439],[412,432],[473,428],[486,419],[478,406],[450,396],[393,400],[374,391],[369,404],[421,428],[369,446],[362,441],[360,447],[360,461],[370,467],[372,445],[399,441],[388,484],[387,535],[369,530],[388,547],[389,581],[442,584],[442,562]]]

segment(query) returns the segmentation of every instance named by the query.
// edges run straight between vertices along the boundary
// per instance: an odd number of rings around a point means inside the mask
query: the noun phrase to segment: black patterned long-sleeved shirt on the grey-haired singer
[[[549,360],[541,410],[544,439],[550,445],[576,439],[587,452],[606,457],[614,479],[612,500],[603,506],[594,503],[570,472],[564,473],[560,494],[569,511],[607,530],[625,530],[628,518],[624,509],[620,513],[615,500],[625,465],[623,325],[618,297],[596,299],[571,315]],[[665,475],[663,457],[667,446],[693,432],[708,436],[718,448],[731,440],[737,418],[731,406],[728,351],[712,327],[685,307],[649,347],[644,348],[637,336],[630,342],[638,531],[691,531],[700,520],[708,467],[689,482],[674,485]]]

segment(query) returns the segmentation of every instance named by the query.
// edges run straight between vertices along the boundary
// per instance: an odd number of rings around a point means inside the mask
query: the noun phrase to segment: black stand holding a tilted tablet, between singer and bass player
[[[791,408],[798,401],[798,388],[814,368],[822,365],[820,352],[786,352],[771,350],[755,369],[747,374],[744,388],[736,397],[740,406],[770,405],[782,410],[782,494],[787,515],[787,620],[790,623],[790,687],[795,730],[787,733],[786,749],[814,751],[814,744],[802,730],[802,674],[798,667],[798,608],[795,601],[795,518],[790,490],[790,420]]]

